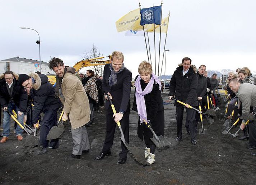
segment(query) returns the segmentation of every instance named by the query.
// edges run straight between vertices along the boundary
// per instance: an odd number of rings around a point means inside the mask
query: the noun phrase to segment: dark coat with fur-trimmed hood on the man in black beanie
[[[43,74],[29,74],[35,79],[31,97],[34,100],[33,124],[37,123],[41,112],[61,107],[59,98],[55,98],[55,87],[48,81],[48,77]]]

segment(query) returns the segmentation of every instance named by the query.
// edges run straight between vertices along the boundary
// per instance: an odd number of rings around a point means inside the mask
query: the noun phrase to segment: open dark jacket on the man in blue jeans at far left
[[[19,108],[20,112],[25,112],[27,108],[27,91],[22,85],[19,84],[18,80],[14,77],[13,79],[13,101],[14,104]],[[9,104],[10,95],[6,87],[5,78],[0,80],[0,103],[2,107],[6,107]]]

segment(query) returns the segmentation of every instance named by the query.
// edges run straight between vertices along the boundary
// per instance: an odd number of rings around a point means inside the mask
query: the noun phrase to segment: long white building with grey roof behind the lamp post
[[[0,61],[0,73],[13,71],[18,74],[27,74],[31,71],[40,71],[40,61],[27,58],[13,57]],[[49,69],[48,63],[41,61],[41,73],[47,75],[54,72]]]

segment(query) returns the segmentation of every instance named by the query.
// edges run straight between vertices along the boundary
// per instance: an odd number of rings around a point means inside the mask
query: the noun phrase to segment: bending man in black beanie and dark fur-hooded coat
[[[19,83],[26,89],[30,89],[30,94],[34,100],[33,124],[39,119],[40,113],[43,112],[42,123],[40,125],[40,143],[42,149],[36,154],[42,155],[48,152],[48,148],[56,149],[59,147],[59,139],[52,139],[50,143],[46,140],[50,129],[57,125],[57,110],[61,107],[59,98],[55,98],[55,88],[48,81],[48,77],[35,72],[19,75]]]

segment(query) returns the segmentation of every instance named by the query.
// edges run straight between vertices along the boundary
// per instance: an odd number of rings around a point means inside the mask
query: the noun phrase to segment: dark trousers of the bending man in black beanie
[[[47,148],[48,146],[53,148],[59,147],[59,138],[52,139],[50,141],[46,140],[47,134],[49,133],[50,129],[53,126],[57,126],[57,109],[48,109],[45,112],[45,115],[43,116],[42,123],[40,125],[40,143],[44,148]]]

